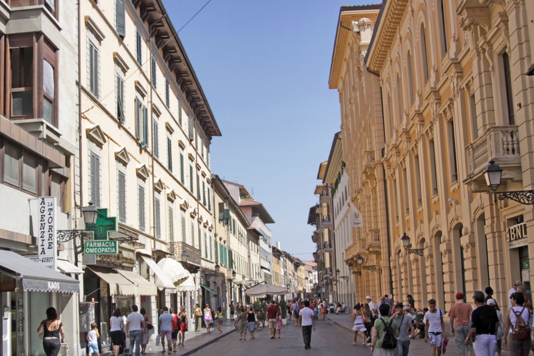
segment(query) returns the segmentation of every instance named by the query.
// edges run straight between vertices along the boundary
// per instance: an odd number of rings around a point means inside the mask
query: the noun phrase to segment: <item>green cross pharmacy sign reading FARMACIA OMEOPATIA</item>
[[[108,209],[98,209],[97,223],[90,225],[88,231],[92,231],[94,240],[86,241],[83,246],[84,254],[118,254],[119,243],[109,239],[110,232],[119,229],[118,220],[115,216],[108,216]]]

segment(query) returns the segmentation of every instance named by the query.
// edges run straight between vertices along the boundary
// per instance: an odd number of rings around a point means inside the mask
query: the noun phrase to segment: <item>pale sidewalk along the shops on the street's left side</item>
[[[193,331],[191,331],[193,330]],[[268,329],[267,329],[268,330]],[[223,332],[217,331],[217,323],[213,324],[211,327],[211,332],[208,334],[206,332],[206,327],[202,327],[201,332],[195,332],[195,327],[191,327],[188,332],[186,332],[186,341],[185,346],[177,346],[177,352],[172,353],[172,356],[186,356],[191,355],[193,353],[196,353],[201,348],[204,348],[205,346],[208,346],[209,344],[229,335],[232,334],[232,332],[236,332],[236,327],[234,326],[234,321],[231,321],[227,318],[223,321]],[[156,346],[156,341],[154,337],[150,337],[151,341],[149,341],[147,345],[147,355],[167,355],[166,353],[161,353],[161,350],[163,348],[161,347],[161,343],[159,346]],[[154,339],[154,341],[152,341]],[[129,348],[129,339],[127,339],[127,348]],[[167,350],[167,343],[165,342],[165,351]],[[135,353],[134,353],[135,354]],[[112,353],[102,353],[102,355],[113,355]],[[128,355],[128,353],[124,353],[124,355]],[[141,354],[143,355],[143,354]]]

